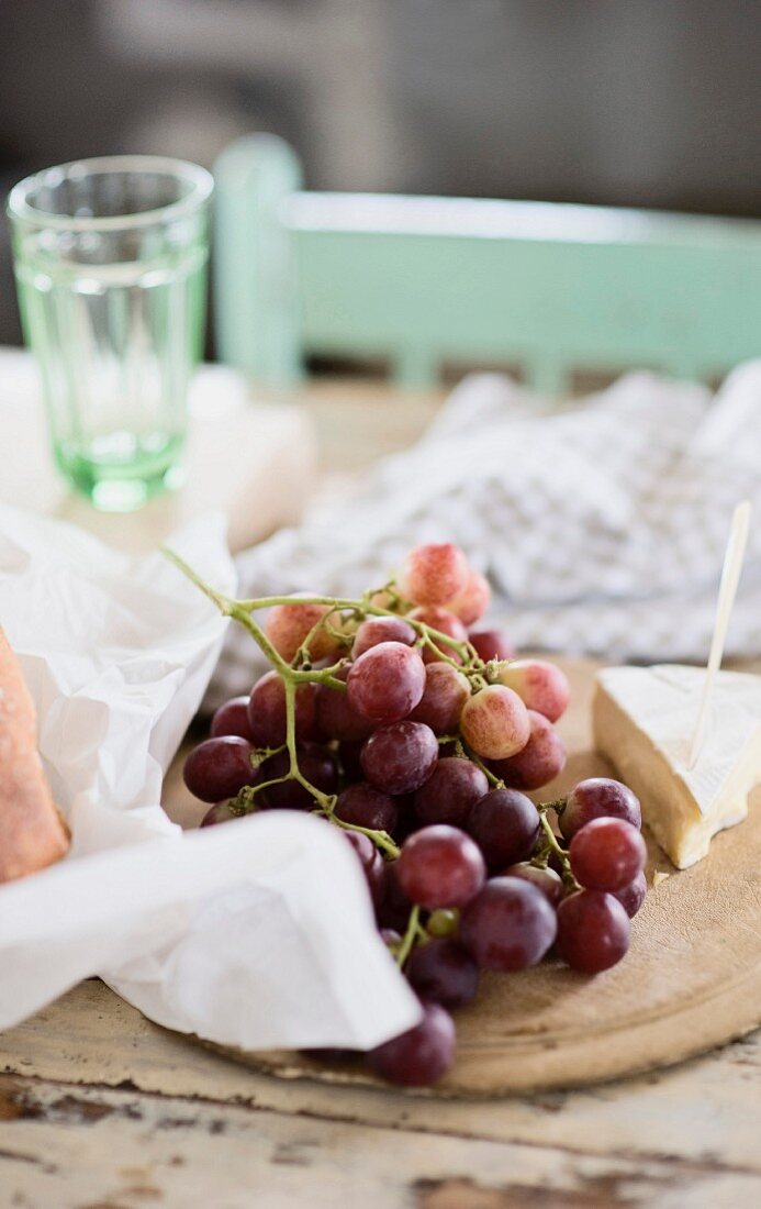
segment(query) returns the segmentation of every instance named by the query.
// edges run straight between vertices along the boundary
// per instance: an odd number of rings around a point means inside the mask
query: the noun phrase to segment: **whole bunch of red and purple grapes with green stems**
[[[202,826],[279,809],[343,829],[422,1003],[419,1024],[370,1054],[403,1086],[451,1066],[451,1012],[481,971],[550,953],[608,970],[646,890],[631,789],[594,777],[552,803],[527,796],[564,767],[553,723],[569,686],[553,664],[513,658],[499,631],[474,629],[489,595],[445,543],[412,550],[359,601],[232,602],[273,670],[217,710],[185,764],[190,791],[214,803]],[[252,613],[266,606],[260,629]]]

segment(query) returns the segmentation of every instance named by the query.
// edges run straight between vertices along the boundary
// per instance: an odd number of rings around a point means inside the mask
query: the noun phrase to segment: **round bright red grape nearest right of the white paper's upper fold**
[[[483,857],[472,839],[446,825],[423,827],[406,839],[397,872],[407,898],[429,910],[463,907],[486,878]]]

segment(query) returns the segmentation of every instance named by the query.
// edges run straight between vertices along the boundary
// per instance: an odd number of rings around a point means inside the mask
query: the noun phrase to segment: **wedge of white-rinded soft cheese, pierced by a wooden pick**
[[[679,664],[598,673],[594,742],[637,794],[643,820],[675,866],[739,823],[761,783],[761,676],[719,672],[697,763],[687,770],[705,671]]]

